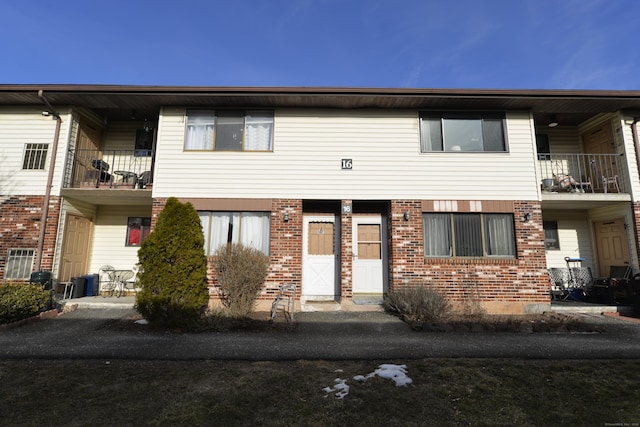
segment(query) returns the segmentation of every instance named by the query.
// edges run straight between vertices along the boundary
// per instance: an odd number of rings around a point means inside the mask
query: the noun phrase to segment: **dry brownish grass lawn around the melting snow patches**
[[[352,378],[407,365],[408,387]],[[336,378],[349,394],[323,391]],[[640,422],[638,360],[0,361],[5,426],[604,426]]]

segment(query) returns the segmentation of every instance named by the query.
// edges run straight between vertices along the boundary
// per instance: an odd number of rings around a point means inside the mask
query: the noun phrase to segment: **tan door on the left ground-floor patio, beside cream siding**
[[[91,221],[89,219],[77,215],[67,215],[59,281],[68,282],[72,277],[87,274],[90,237]]]

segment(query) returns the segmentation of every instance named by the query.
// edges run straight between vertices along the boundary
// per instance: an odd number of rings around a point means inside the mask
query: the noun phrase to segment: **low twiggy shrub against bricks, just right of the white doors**
[[[383,307],[410,323],[443,320],[452,309],[442,292],[426,285],[390,291],[384,297]]]

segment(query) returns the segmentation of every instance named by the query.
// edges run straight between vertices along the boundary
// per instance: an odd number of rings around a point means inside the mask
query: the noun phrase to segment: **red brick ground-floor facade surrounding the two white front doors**
[[[166,203],[153,202],[152,223]],[[343,200],[343,204],[351,204]],[[426,259],[423,250],[422,212],[432,206],[421,200],[394,200],[389,215],[389,287],[390,289],[417,283],[431,283],[444,291],[452,301],[465,303],[473,298],[485,304],[489,311],[516,312],[526,304],[548,303],[549,289],[544,252],[544,230],[539,202],[483,202],[487,211],[497,206],[500,212],[514,214],[515,259]],[[460,211],[468,212],[468,202],[459,203]],[[404,219],[404,213],[409,219]],[[284,221],[288,213],[289,220]],[[524,221],[524,214],[531,219]],[[636,215],[640,219],[640,207]],[[302,281],[302,201],[274,199],[271,207],[271,267],[260,295],[261,300],[275,297],[278,286],[294,283],[300,289]],[[340,242],[341,299],[350,299],[352,292],[352,214],[342,214]],[[215,285],[213,260],[208,259],[209,283]],[[215,298],[215,292],[212,292]],[[298,296],[300,291],[298,291]],[[494,308],[491,308],[493,305]],[[497,308],[495,308],[497,307]],[[514,308],[515,307],[515,308]]]

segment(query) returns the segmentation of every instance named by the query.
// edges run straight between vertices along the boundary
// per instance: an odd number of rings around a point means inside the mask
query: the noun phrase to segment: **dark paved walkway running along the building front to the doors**
[[[604,333],[416,332],[383,312],[303,312],[289,332],[182,334],[116,327],[133,322],[133,300],[79,300],[76,311],[0,332],[0,359],[640,358],[640,323],[597,314],[585,318]]]

